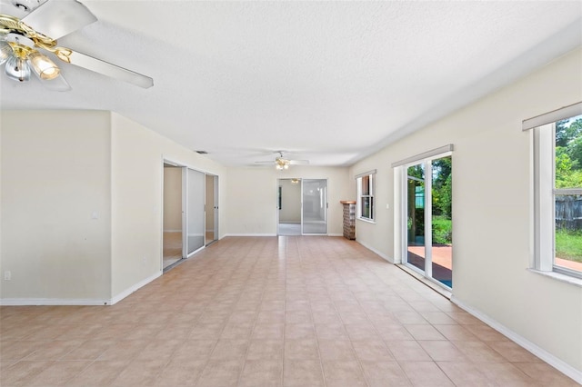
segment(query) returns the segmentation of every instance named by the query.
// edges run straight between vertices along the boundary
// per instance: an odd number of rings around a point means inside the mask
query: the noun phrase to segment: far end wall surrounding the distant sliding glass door
[[[347,168],[294,165],[288,171],[275,167],[229,168],[228,225],[230,235],[276,235],[277,179],[327,179],[328,234],[342,235],[343,207],[349,192]]]

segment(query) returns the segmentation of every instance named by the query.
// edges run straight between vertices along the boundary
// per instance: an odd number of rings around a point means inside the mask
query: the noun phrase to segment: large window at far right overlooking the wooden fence
[[[534,268],[582,278],[582,104],[573,106],[533,127]]]

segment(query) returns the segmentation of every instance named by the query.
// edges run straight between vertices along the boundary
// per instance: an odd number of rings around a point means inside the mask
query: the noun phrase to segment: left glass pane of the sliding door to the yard
[[[425,165],[407,169],[406,260],[425,271]]]

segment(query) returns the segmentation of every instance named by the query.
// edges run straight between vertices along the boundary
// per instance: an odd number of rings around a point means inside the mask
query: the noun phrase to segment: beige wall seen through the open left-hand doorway
[[[182,231],[182,168],[164,167],[164,231]]]

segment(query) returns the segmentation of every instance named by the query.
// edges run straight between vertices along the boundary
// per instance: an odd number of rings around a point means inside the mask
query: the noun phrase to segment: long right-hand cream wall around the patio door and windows
[[[398,257],[396,187],[390,165],[454,144],[454,299],[577,372],[582,372],[582,288],[527,270],[532,257],[532,139],[522,132],[521,122],[582,101],[580,69],[578,49],[350,170],[354,176],[377,169],[376,224],[356,223],[357,240],[393,260]]]

